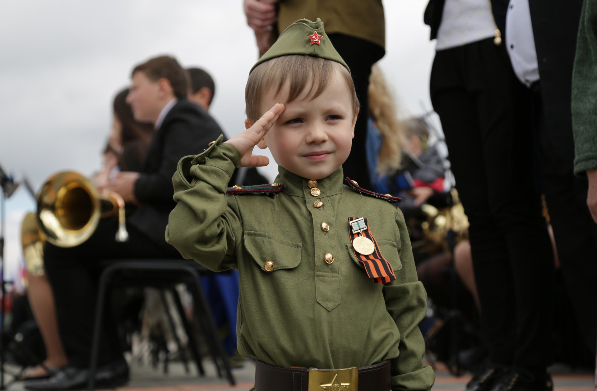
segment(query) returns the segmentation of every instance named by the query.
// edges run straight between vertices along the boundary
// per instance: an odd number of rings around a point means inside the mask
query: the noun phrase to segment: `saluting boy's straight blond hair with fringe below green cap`
[[[290,88],[287,102],[298,98],[307,87],[307,98],[314,99],[320,96],[330,84],[334,69],[338,69],[346,81],[352,94],[353,112],[356,112],[360,106],[359,100],[356,97],[355,84],[346,67],[321,57],[293,54],[267,60],[253,69],[245,87],[247,119],[254,123],[263,115],[260,109],[261,98],[271,88],[276,89],[274,95],[277,95],[284,85],[288,84]]]

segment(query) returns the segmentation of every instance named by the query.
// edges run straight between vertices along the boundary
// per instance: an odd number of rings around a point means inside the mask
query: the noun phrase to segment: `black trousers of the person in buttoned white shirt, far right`
[[[535,92],[540,177],[556,241],[562,275],[578,328],[595,356],[597,347],[597,224],[587,207],[587,178],[574,176],[574,138],[571,127],[545,123],[541,85]],[[562,120],[572,121],[570,99]],[[563,121],[562,121],[563,122]]]

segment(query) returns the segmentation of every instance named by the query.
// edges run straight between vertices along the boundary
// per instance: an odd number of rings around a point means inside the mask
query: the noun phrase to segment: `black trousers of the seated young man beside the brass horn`
[[[50,280],[60,330],[69,365],[88,368],[96,311],[97,287],[101,268],[99,261],[114,258],[180,258],[176,249],[167,250],[127,224],[128,242],[115,241],[118,221],[104,218],[94,234],[83,244],[72,248],[44,247],[45,270]],[[99,365],[122,359],[116,324],[105,312],[104,334],[101,336]]]

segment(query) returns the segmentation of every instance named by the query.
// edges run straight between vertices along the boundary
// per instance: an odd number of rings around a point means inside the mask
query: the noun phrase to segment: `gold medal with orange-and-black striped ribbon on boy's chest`
[[[349,217],[349,233],[352,250],[363,265],[369,278],[378,284],[387,284],[396,279],[392,265],[383,257],[376,239],[371,235],[367,218]]]

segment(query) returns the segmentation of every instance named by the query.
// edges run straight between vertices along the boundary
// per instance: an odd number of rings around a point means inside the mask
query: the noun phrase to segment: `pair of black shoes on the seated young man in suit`
[[[128,366],[126,362],[105,365],[97,369],[96,388],[115,388],[128,382]],[[56,375],[45,380],[30,380],[24,387],[34,391],[60,391],[86,389],[89,371],[81,368],[67,367]]]

